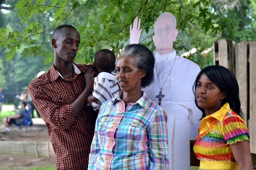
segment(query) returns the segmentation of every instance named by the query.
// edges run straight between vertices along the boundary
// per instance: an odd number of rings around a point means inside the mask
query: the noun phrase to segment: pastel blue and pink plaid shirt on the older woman
[[[88,169],[169,169],[165,111],[145,94],[125,108],[122,94],[100,108]]]

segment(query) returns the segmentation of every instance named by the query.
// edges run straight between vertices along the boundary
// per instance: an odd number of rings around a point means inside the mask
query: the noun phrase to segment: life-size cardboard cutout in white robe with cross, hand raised
[[[135,19],[138,22],[138,18]],[[135,25],[135,23],[134,23]],[[130,27],[132,28],[132,27]],[[130,29],[130,42],[139,43],[140,20]],[[178,30],[171,13],[161,14],[154,26],[155,81],[143,89],[146,95],[167,113],[168,150],[170,170],[190,169],[189,139],[195,139],[201,111],[196,107],[193,83],[200,67],[192,61],[177,56],[173,49]]]

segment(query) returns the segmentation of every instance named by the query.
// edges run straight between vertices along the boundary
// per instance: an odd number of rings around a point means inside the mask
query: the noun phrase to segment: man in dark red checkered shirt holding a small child
[[[28,91],[45,121],[57,170],[87,169],[94,135],[93,109],[86,99],[93,89],[93,67],[73,63],[80,35],[71,25],[57,27],[52,35],[54,63],[28,85]]]

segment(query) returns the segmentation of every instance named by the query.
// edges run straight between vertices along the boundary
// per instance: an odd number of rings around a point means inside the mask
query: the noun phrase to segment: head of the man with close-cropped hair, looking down
[[[76,57],[79,44],[80,35],[75,27],[71,25],[58,26],[52,35],[54,64],[62,61],[72,63]]]

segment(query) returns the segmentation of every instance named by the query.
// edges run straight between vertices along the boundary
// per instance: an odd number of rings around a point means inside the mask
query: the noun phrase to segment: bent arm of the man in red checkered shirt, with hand
[[[67,104],[63,106],[56,104],[56,102],[53,101],[53,98],[48,95],[46,91],[49,91],[49,89],[44,89],[34,83],[30,83],[28,85],[28,91],[42,119],[57,129],[67,129],[72,126],[75,118],[84,106],[87,96],[92,91],[94,74],[96,73],[92,68],[87,70],[85,74],[86,87],[84,88],[84,91],[73,103],[68,104],[67,101]],[[62,102],[62,99],[69,100],[66,92],[54,97],[55,100],[58,99],[57,102]]]

